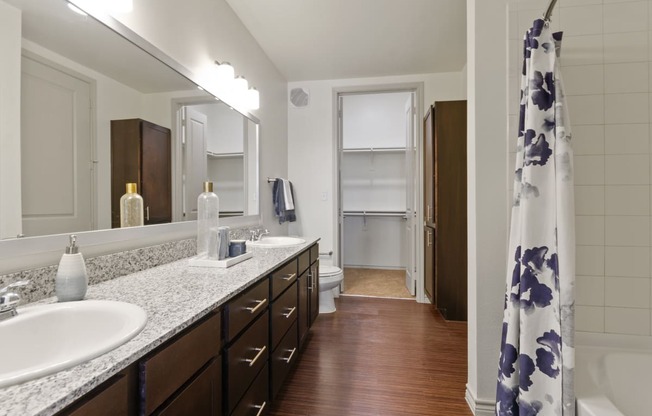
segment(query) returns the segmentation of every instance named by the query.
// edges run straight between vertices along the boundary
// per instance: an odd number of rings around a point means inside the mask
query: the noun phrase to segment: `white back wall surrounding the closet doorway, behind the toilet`
[[[288,84],[288,91],[297,87],[310,90],[309,106],[288,110],[288,176],[297,199],[297,222],[290,225],[290,234],[321,237],[320,251],[336,251],[336,90],[359,87],[364,91],[400,83],[423,83],[424,107],[435,100],[466,98],[458,72]],[[418,117],[422,119],[423,114]]]

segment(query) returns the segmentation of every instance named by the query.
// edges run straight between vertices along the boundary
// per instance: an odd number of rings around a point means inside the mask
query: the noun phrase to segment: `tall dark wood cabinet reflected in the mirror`
[[[135,182],[145,224],[172,221],[170,129],[141,119],[111,120],[111,227],[120,227],[120,197]]]

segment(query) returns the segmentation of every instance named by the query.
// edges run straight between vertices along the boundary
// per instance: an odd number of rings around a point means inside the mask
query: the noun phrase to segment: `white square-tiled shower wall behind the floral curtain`
[[[509,131],[522,36],[549,0],[510,3]],[[575,150],[576,328],[652,335],[652,0],[559,0]],[[509,138],[510,158],[514,138]],[[513,163],[513,162],[512,162]],[[512,189],[512,178],[508,179]],[[511,195],[510,195],[511,196]]]

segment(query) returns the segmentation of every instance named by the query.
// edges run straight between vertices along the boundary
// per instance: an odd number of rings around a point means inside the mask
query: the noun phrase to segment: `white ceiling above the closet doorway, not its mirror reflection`
[[[226,0],[288,81],[459,71],[464,0]]]

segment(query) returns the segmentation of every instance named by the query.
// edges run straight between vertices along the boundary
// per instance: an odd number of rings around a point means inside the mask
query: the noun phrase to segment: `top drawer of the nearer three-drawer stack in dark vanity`
[[[263,279],[226,307],[227,342],[235,338],[250,322],[269,306],[269,279]]]

